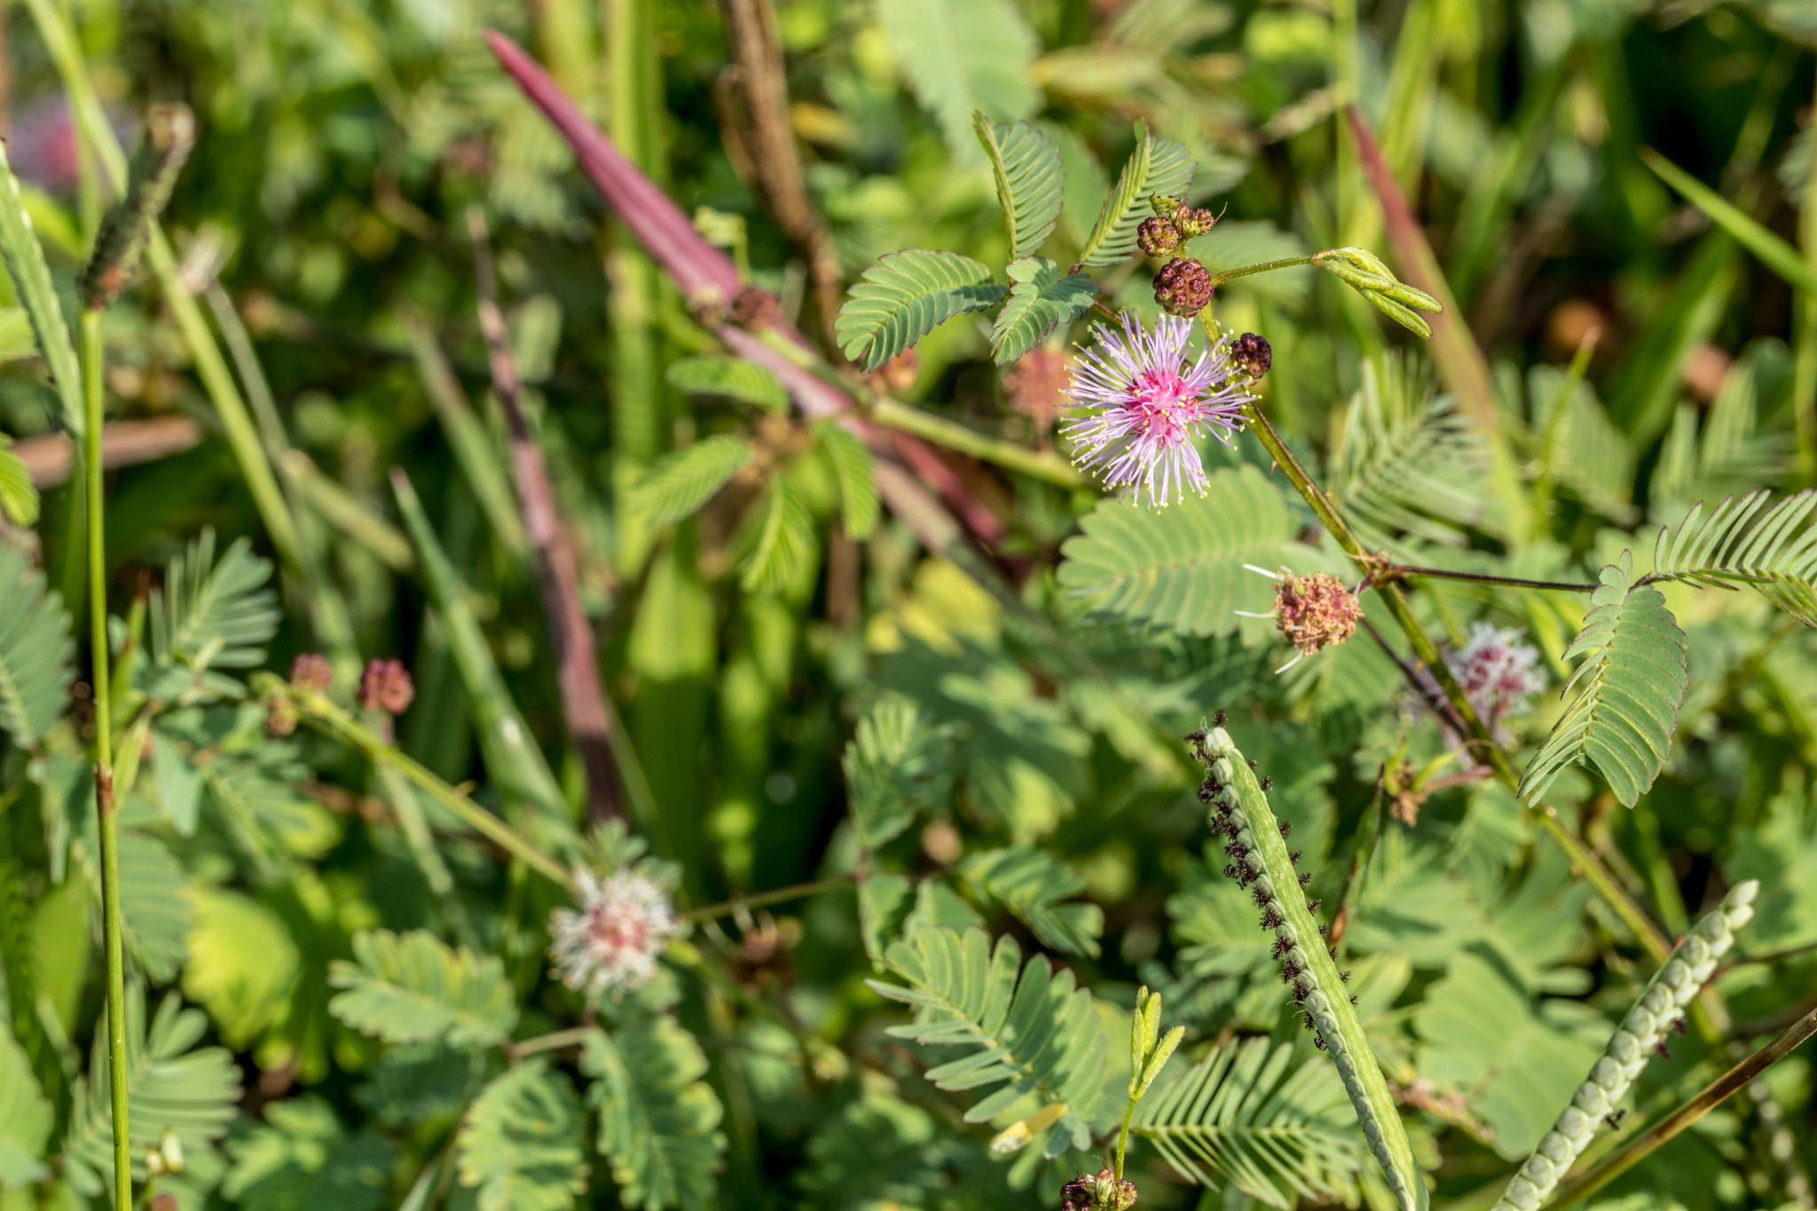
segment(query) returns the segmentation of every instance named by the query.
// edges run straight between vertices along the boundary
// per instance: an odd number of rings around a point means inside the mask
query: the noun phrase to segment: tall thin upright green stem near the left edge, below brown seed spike
[[[107,684],[107,539],[102,516],[102,314],[82,310],[82,478],[89,505],[89,643],[94,684],[94,813],[102,846],[102,939],[107,951],[107,1073],[113,1086],[114,1211],[133,1211],[133,1144],[125,1097],[125,953],[120,939],[120,837],[113,793]]]

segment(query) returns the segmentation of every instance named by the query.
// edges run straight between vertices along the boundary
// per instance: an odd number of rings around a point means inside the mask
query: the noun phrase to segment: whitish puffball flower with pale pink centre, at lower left
[[[669,891],[630,868],[605,877],[580,871],[578,879],[580,911],[558,908],[549,915],[556,975],[592,997],[643,986],[681,928]]]

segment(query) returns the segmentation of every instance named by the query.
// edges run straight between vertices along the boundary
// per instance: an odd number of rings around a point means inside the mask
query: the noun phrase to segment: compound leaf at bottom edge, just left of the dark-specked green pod
[[[1294,1048],[1266,1039],[1223,1042],[1163,1075],[1132,1129],[1183,1177],[1212,1187],[1226,1178],[1281,1211],[1343,1202],[1366,1164],[1337,1069],[1294,1064]]]

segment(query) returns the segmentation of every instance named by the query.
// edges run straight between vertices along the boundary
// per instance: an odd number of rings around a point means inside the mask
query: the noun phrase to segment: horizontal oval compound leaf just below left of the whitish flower
[[[336,960],[329,984],[345,989],[329,1013],[385,1042],[494,1044],[518,1024],[505,964],[452,950],[427,930],[369,930],[352,939],[356,962]]]

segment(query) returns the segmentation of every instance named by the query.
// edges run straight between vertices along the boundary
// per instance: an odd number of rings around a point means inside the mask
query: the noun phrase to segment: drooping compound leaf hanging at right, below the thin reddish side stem
[[[1521,797],[1537,802],[1570,763],[1586,763],[1624,806],[1659,777],[1672,752],[1690,681],[1688,641],[1657,588],[1633,585],[1633,556],[1603,568],[1583,630],[1564,659],[1586,657],[1564,686],[1577,699],[1521,775]]]

